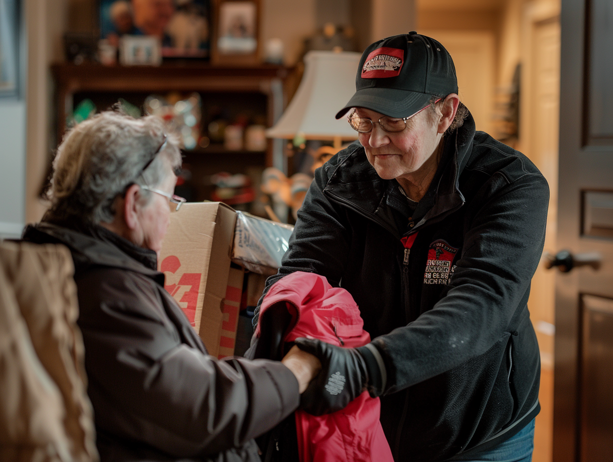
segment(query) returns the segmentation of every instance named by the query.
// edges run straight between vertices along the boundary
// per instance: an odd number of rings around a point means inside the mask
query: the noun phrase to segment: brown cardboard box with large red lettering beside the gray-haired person
[[[166,275],[164,287],[212,356],[226,356],[230,343],[234,351],[232,326],[235,336],[237,302],[232,288],[242,290],[242,274],[240,283],[238,273],[233,272],[230,278],[235,221],[234,209],[221,202],[183,204],[180,212],[170,215],[159,257],[159,271]]]

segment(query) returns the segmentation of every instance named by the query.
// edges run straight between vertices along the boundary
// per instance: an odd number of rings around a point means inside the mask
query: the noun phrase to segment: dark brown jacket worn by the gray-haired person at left
[[[207,355],[164,290],[155,252],[101,226],[77,228],[40,223],[24,239],[72,252],[102,462],[259,461],[253,437],[299,404],[292,372]]]

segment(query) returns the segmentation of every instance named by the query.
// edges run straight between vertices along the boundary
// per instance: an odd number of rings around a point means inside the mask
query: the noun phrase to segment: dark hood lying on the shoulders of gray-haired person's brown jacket
[[[164,285],[153,250],[138,247],[102,226],[73,224],[66,228],[42,221],[26,226],[22,237],[35,244],[66,245],[72,253],[75,276],[93,266],[107,266],[139,272]]]

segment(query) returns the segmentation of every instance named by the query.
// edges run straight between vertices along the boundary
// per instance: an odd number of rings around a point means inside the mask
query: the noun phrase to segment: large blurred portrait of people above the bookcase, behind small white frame
[[[164,58],[208,58],[210,0],[99,0],[101,38],[154,36]]]

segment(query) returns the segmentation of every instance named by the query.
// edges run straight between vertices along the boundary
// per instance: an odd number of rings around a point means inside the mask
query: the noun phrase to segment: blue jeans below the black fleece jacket
[[[528,423],[524,428],[508,440],[486,451],[470,452],[466,455],[454,457],[454,461],[466,462],[531,462],[532,450],[535,445],[535,421]]]

